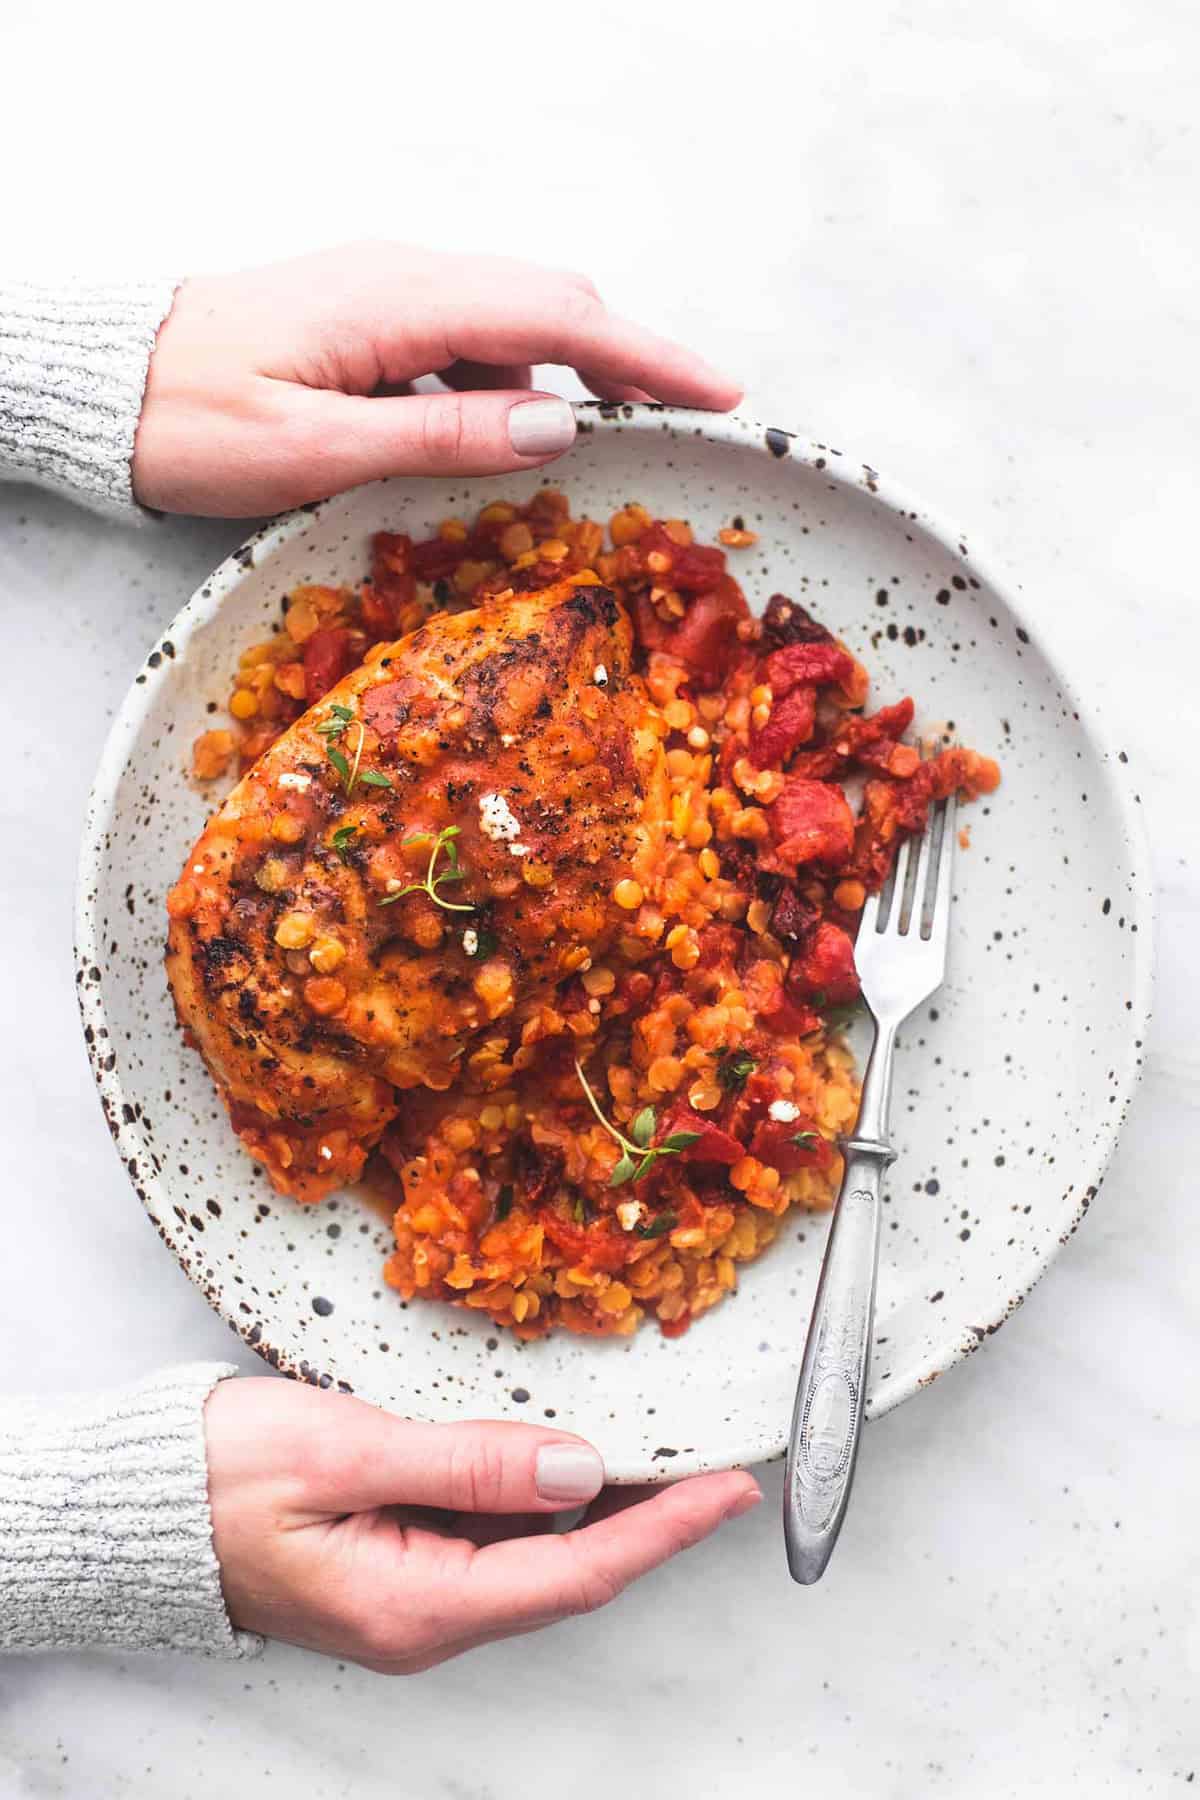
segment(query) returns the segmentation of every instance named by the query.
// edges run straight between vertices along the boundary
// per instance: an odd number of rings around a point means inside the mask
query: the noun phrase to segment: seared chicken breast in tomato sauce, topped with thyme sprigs
[[[448,1089],[464,1057],[504,1069],[515,1022],[628,923],[666,812],[630,655],[597,585],[439,614],[376,646],[205,826],[167,974],[281,1192],[354,1179],[405,1091]]]

